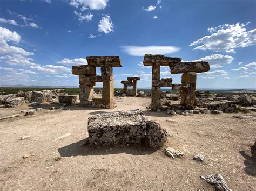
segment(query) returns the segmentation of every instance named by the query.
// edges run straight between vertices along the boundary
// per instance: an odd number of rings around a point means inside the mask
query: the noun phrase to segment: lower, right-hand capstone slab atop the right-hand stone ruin
[[[187,72],[207,72],[210,70],[210,65],[208,62],[180,62],[172,63],[170,66],[171,74],[182,74]]]

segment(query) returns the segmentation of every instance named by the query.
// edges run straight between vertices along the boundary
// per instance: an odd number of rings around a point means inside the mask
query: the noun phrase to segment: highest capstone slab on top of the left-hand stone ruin
[[[122,62],[119,56],[87,56],[88,65],[100,67],[108,64],[112,67],[122,67]]]

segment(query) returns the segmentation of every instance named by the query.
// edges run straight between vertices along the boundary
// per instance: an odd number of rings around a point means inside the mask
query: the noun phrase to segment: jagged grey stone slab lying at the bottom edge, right
[[[204,175],[200,176],[201,179],[210,183],[215,188],[220,190],[231,190],[230,186],[226,183],[221,174],[212,174],[212,175]]]

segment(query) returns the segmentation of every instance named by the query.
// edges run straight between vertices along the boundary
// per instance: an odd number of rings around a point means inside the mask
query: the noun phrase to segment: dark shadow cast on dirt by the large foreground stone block
[[[61,157],[75,157],[75,156],[92,156],[92,155],[108,155],[126,153],[132,155],[149,155],[156,150],[152,150],[145,147],[124,147],[124,146],[87,146],[84,145],[88,141],[88,138],[79,140],[79,142],[66,145],[62,148],[58,148],[58,152]]]

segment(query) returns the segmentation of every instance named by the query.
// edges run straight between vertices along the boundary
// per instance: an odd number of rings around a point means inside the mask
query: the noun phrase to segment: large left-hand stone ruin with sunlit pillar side
[[[95,108],[114,108],[113,67],[122,67],[119,56],[87,56],[88,65],[72,66],[72,74],[79,76],[80,105]],[[102,75],[96,75],[100,67]],[[103,82],[102,98],[93,98],[93,86]]]

